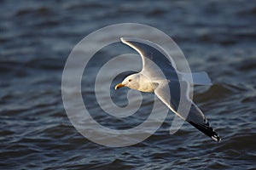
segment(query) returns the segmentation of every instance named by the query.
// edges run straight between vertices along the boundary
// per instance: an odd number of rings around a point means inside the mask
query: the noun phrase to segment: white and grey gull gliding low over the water
[[[115,86],[115,89],[127,87],[141,92],[154,93],[177,116],[219,142],[221,139],[218,133],[210,127],[206,116],[189,97],[191,81],[187,78],[188,73],[176,71],[172,62],[166,58],[166,52],[153,42],[134,37],[122,37],[121,42],[134,48],[141,55],[143,69],[139,73],[125,77],[123,82]],[[206,72],[193,73],[192,77],[193,84],[211,84]],[[178,112],[181,89],[186,90],[185,99],[190,105],[189,113]]]

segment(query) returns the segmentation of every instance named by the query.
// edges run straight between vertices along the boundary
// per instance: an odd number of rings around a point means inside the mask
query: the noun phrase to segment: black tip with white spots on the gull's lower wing
[[[220,142],[221,139],[218,136],[218,133],[214,131],[212,127],[210,127],[209,123],[206,124],[196,124],[195,122],[189,122],[191,125],[196,127],[198,130],[200,130],[202,133],[205,133],[207,136],[212,138],[213,140]]]

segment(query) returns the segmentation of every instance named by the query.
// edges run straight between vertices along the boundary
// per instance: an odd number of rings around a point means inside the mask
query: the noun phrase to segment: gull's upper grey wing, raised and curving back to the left
[[[134,48],[143,60],[143,75],[154,79],[177,80],[174,62],[157,44],[135,37],[121,37],[121,41]],[[164,74],[164,75],[163,75]],[[164,76],[164,77],[163,77]]]

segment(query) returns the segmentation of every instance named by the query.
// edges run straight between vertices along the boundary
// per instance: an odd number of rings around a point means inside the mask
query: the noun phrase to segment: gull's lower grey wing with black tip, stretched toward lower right
[[[185,92],[185,94],[181,94],[180,89],[187,89],[187,91]],[[154,94],[156,94],[157,97],[162,102],[164,102],[171,111],[177,114],[177,116],[180,116],[181,118],[183,118],[183,120],[189,122],[191,125],[196,127],[202,133],[205,133],[212,139],[220,141],[218,133],[216,133],[214,129],[210,127],[210,124],[207,122],[206,116],[204,116],[202,111],[195,105],[195,103],[191,99],[189,99],[188,92],[189,84],[188,82],[184,81],[158,82],[158,86],[154,90]],[[181,95],[184,95],[183,99],[181,100],[181,102],[183,103],[179,105]],[[185,111],[186,109],[182,108],[188,108],[189,106],[189,112]],[[183,113],[183,111],[185,113]]]

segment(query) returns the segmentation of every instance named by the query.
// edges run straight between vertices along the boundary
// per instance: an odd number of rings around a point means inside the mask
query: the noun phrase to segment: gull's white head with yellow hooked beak
[[[126,77],[123,82],[117,84],[114,87],[114,89],[119,89],[119,88],[123,88],[123,87],[138,89],[139,88],[139,80],[140,80],[140,75],[138,73],[132,74],[132,75]]]

